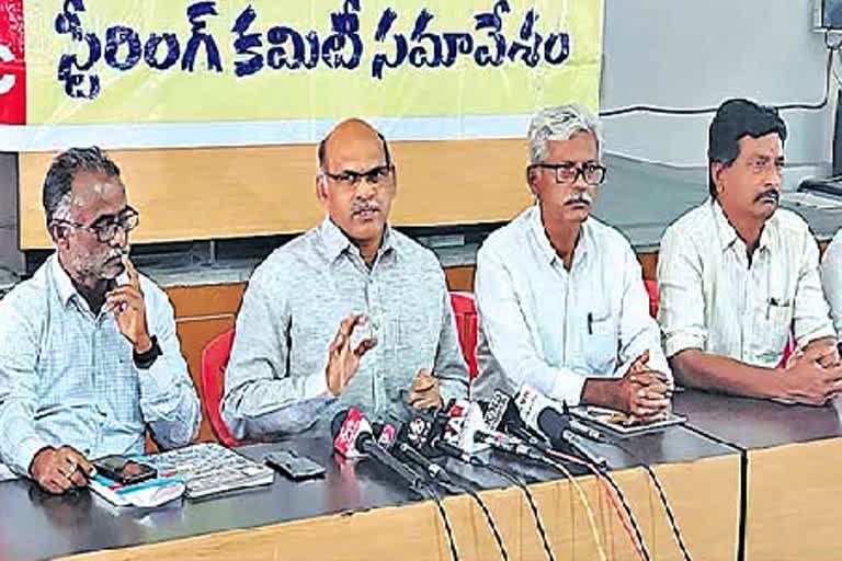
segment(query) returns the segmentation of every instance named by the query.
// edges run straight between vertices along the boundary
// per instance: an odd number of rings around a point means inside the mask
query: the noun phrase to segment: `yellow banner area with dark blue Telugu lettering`
[[[595,110],[602,11],[602,0],[26,0],[26,124]],[[493,122],[477,129],[494,136]]]

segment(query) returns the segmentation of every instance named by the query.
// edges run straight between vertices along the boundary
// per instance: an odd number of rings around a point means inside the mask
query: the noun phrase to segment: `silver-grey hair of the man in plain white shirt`
[[[546,161],[548,141],[569,140],[580,131],[596,137],[596,161],[602,161],[602,124],[585,106],[570,103],[541,110],[530,122],[530,164]]]

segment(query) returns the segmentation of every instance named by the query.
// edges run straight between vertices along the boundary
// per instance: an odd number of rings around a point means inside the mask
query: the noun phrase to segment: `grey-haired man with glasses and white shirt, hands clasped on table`
[[[605,178],[599,123],[580,105],[541,111],[526,178],[536,204],[477,256],[475,396],[528,385],[570,405],[647,422],[668,412],[670,370],[628,241],[590,217]]]

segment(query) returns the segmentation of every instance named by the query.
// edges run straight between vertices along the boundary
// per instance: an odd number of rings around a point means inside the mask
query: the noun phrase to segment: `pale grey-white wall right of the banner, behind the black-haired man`
[[[605,0],[602,110],[627,105],[717,106],[727,98],[818,103],[824,37],[815,0]],[[787,111],[790,163],[831,159],[826,111]],[[674,165],[706,163],[712,114],[605,118],[611,152]]]

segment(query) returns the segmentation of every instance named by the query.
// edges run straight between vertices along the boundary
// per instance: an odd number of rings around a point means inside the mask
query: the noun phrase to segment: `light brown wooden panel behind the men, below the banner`
[[[399,226],[509,220],[531,199],[524,140],[390,144],[398,167]],[[41,193],[53,153],[20,154],[21,249],[49,248]],[[136,243],[304,231],[318,224],[316,146],[113,150],[130,203]]]

